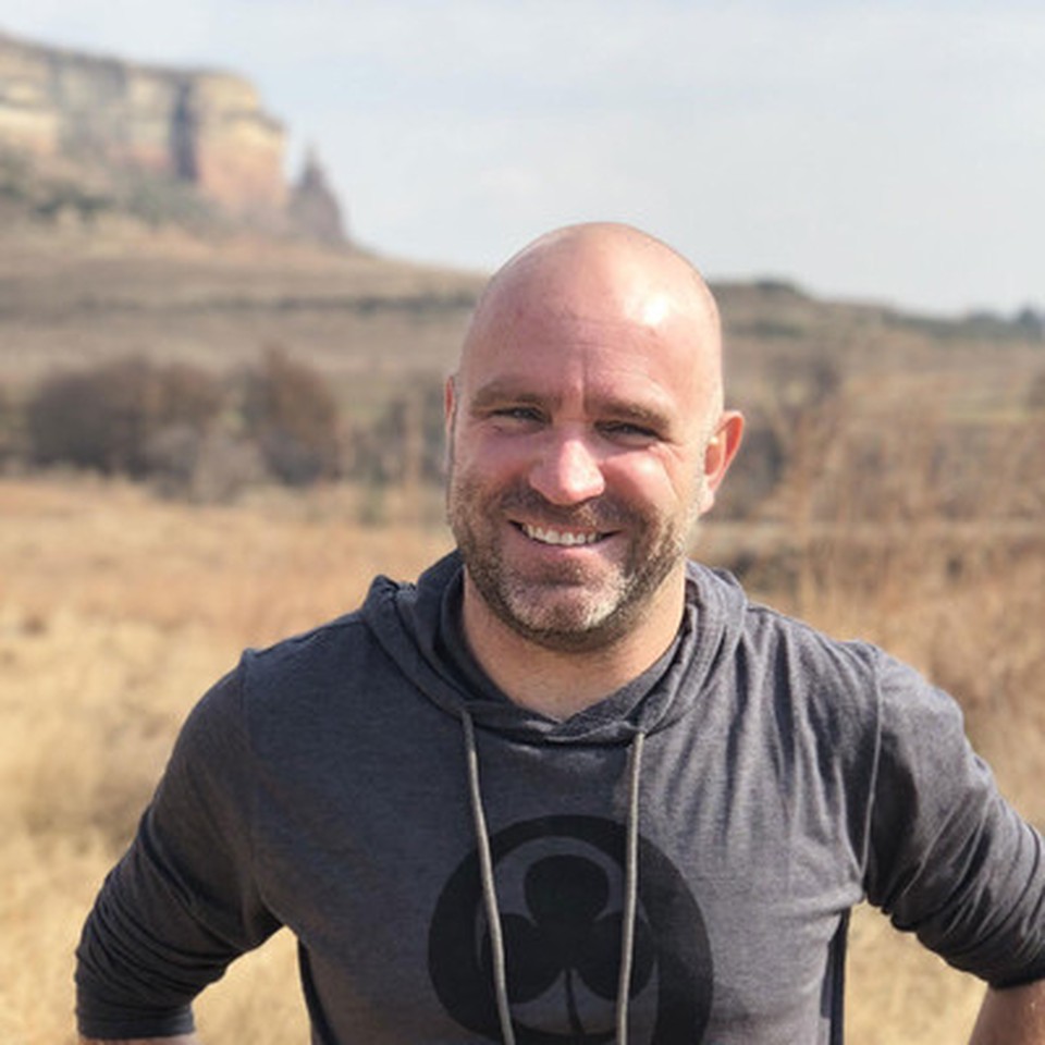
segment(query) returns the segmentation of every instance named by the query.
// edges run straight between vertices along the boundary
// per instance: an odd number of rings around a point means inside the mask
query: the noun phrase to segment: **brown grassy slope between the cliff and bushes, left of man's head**
[[[282,345],[325,370],[442,369],[480,280],[175,224],[0,233],[0,378],[131,353],[226,369]]]

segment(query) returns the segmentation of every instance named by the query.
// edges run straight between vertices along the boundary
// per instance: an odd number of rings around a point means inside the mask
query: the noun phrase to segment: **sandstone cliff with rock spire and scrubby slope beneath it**
[[[0,32],[0,218],[114,216],[344,241],[314,153],[287,184],[286,131],[249,79]]]

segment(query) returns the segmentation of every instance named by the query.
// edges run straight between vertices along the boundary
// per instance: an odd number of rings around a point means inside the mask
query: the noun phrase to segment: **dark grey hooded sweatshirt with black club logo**
[[[840,1042],[865,898],[1045,975],[1042,838],[912,669],[689,564],[673,648],[554,721],[472,660],[462,583],[378,578],[202,699],[84,929],[81,1033],[190,1030],[281,926],[314,1045]]]

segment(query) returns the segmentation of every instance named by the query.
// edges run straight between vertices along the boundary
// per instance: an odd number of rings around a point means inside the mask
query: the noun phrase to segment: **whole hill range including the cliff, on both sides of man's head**
[[[344,236],[310,156],[285,183],[285,132],[245,77],[163,69],[0,34],[0,381],[145,355],[217,371],[278,345],[346,403],[445,373],[481,285]],[[822,302],[789,283],[716,287],[734,398],[760,425],[846,393],[875,416],[1024,411],[1043,317],[933,319]]]

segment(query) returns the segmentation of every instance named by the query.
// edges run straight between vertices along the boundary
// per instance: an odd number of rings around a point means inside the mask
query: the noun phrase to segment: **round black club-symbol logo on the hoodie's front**
[[[594,816],[546,816],[505,828],[490,847],[519,1045],[612,1042],[624,827]],[[681,875],[642,838],[638,900],[629,989],[632,1037],[651,1045],[693,1045],[711,1008],[708,936]],[[457,868],[437,905],[429,974],[457,1023],[500,1040],[477,852]],[[638,1028],[643,1032],[637,1034]]]

